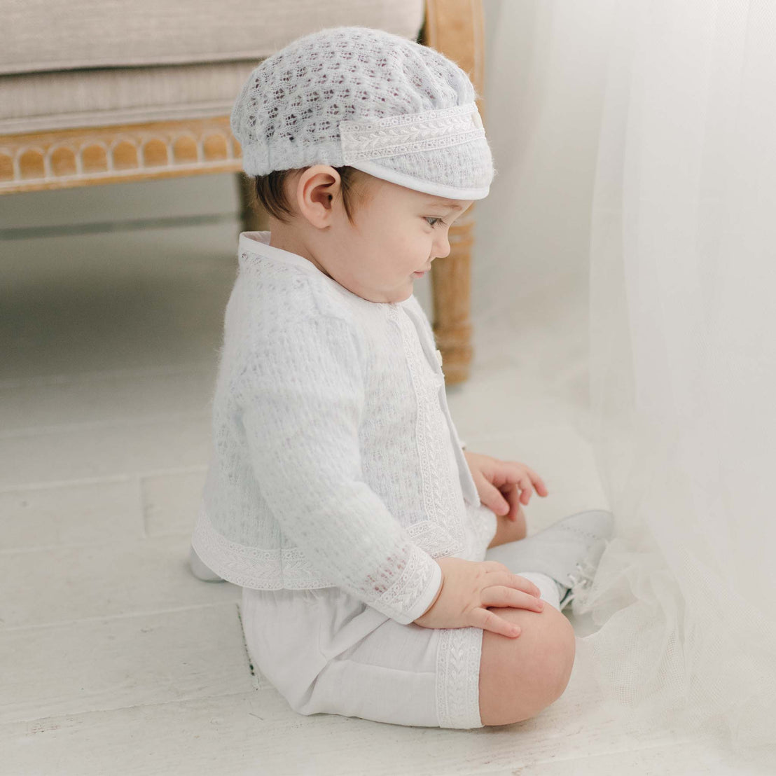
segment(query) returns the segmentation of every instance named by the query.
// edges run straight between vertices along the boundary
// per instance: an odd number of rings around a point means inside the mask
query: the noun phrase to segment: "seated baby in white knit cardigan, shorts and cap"
[[[489,192],[475,99],[433,48],[345,26],[268,57],[234,104],[271,228],[239,237],[191,563],[242,586],[251,657],[301,714],[539,713],[611,535],[587,511],[526,539],[541,478],[464,452],[450,416],[413,284]]]

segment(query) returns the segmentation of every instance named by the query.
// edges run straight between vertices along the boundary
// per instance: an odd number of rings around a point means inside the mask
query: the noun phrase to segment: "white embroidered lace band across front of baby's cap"
[[[485,137],[476,103],[339,123],[342,164],[469,143]]]

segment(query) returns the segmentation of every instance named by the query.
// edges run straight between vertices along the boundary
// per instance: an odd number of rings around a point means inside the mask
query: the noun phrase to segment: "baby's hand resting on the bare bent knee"
[[[512,573],[496,560],[465,560],[438,558],[442,569],[442,586],[431,606],[413,622],[424,628],[467,628],[520,636],[513,625],[488,606],[512,606],[518,609],[542,611],[541,591],[531,581]]]

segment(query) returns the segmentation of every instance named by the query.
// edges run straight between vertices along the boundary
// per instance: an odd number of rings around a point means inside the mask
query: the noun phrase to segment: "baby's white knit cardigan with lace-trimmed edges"
[[[341,587],[412,622],[435,558],[482,560],[496,531],[431,325],[414,295],[365,300],[269,240],[239,238],[192,546],[234,584]]]

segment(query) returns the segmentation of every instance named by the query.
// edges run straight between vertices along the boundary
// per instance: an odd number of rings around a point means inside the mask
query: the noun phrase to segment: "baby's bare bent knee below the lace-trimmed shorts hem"
[[[516,639],[483,631],[480,718],[483,725],[511,725],[556,701],[569,683],[576,652],[571,623],[553,606],[544,611],[489,606],[520,625]]]

